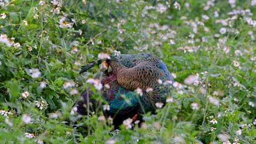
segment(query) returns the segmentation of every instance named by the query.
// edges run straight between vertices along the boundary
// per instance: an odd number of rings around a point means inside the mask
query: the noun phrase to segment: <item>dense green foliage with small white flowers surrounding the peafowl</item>
[[[254,143],[255,0],[177,2],[1,1],[0,141]],[[80,66],[117,51],[153,53],[176,81],[158,115],[119,133],[72,109],[99,71]]]

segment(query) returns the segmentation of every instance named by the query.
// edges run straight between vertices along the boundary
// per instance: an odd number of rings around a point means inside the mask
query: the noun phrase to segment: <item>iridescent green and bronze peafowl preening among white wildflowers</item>
[[[101,62],[85,65],[81,73]],[[109,85],[109,88],[102,88],[102,98],[110,106],[110,110],[105,113],[113,117],[115,129],[127,118],[142,120],[141,114],[149,111],[154,113],[156,103],[165,105],[167,96],[171,94],[173,79],[158,57],[150,53],[138,53],[111,56],[106,62],[111,70],[97,74],[94,78],[100,79],[103,85]],[[90,111],[96,110],[97,101],[91,95],[89,88],[82,92],[83,99],[78,101],[77,106],[81,115],[87,114],[88,98]]]

